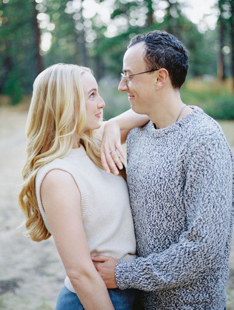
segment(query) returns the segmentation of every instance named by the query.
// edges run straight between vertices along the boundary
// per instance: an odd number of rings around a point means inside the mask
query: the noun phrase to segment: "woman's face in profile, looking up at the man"
[[[81,84],[85,94],[87,115],[84,131],[98,129],[101,126],[101,109],[104,108],[105,102],[98,93],[98,84],[92,74],[89,72],[83,73]]]

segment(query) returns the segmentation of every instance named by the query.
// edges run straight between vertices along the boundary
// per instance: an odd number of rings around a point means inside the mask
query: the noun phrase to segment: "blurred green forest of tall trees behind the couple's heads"
[[[182,100],[234,119],[233,7],[232,0],[1,0],[0,104],[30,100],[43,69],[73,63],[93,69],[109,119],[129,108],[117,91],[129,40],[160,29],[190,52]]]

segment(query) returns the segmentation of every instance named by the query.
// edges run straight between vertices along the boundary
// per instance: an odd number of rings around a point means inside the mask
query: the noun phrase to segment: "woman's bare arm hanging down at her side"
[[[80,192],[72,176],[51,170],[41,186],[41,199],[67,276],[86,310],[114,310],[108,290],[90,258],[82,224]]]

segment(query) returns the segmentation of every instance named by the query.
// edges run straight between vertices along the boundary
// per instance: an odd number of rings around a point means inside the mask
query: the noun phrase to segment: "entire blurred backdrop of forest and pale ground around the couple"
[[[58,62],[92,68],[108,120],[130,108],[117,91],[130,39],[166,30],[190,52],[182,100],[217,119],[234,152],[233,10],[233,0],[0,0],[0,310],[53,310],[65,277],[53,237],[35,243],[18,229],[35,77]],[[234,244],[226,309],[234,310]]]

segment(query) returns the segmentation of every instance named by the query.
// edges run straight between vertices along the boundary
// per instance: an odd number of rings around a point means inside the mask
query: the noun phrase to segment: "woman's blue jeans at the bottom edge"
[[[115,310],[132,310],[136,290],[108,289]],[[85,310],[77,295],[63,286],[58,295],[55,310]]]

